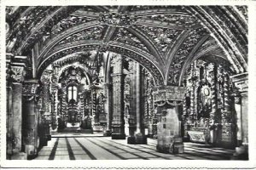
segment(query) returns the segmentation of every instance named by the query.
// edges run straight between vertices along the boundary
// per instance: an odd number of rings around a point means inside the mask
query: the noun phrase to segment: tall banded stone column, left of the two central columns
[[[125,108],[124,108],[124,77],[122,57],[117,54],[113,56],[113,119],[112,139],[125,139]]]

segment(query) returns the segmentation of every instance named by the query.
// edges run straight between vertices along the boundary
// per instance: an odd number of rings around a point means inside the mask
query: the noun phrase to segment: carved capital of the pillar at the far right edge
[[[247,94],[248,92],[248,73],[241,73],[230,77],[232,82],[235,84],[237,90],[241,94]]]

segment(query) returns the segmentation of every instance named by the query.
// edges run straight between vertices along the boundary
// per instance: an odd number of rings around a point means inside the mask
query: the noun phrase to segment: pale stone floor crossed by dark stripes
[[[99,136],[55,136],[39,151],[36,160],[229,160],[234,150],[205,144],[184,143],[183,154],[156,151],[156,140],[148,144],[127,144],[125,139],[113,140]]]

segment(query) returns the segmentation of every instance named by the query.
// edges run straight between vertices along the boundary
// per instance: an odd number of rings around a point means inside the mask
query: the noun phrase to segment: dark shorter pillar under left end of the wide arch
[[[28,159],[38,154],[38,109],[36,101],[38,85],[38,80],[28,80],[23,83],[24,143]]]

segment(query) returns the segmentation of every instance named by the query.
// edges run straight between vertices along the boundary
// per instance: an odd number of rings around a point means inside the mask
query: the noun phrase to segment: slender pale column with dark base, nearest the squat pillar
[[[144,103],[142,102],[142,91],[141,91],[141,66],[136,62],[135,65],[135,74],[133,75],[133,94],[135,97],[135,113],[136,113],[136,132],[131,133],[130,137],[128,138],[128,144],[147,144],[147,137],[144,133],[143,128],[143,111],[142,111],[142,105]]]

